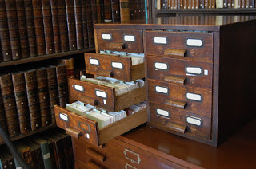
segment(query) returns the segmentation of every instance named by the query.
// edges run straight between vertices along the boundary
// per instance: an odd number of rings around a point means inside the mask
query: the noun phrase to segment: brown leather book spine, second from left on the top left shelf
[[[6,15],[9,28],[12,59],[18,60],[22,58],[22,51],[18,33],[18,18],[15,0],[6,0]]]

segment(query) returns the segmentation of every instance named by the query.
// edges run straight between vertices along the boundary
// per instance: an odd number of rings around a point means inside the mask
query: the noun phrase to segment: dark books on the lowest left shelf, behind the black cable
[[[57,128],[17,140],[14,146],[31,169],[74,168],[71,137]],[[22,168],[6,145],[0,149],[0,168]]]

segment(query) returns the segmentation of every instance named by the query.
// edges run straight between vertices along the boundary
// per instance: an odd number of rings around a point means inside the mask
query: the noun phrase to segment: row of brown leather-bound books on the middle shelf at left
[[[66,65],[0,75],[0,122],[9,136],[55,124],[54,105],[69,102]]]

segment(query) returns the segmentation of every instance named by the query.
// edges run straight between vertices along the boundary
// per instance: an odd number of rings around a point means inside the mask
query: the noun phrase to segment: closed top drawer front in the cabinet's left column
[[[142,30],[96,29],[99,50],[143,53]]]

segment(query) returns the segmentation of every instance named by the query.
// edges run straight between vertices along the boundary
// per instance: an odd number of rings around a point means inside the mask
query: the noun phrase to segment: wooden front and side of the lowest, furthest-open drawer
[[[54,105],[54,112],[56,124],[59,128],[65,129],[67,134],[75,138],[81,138],[95,146],[102,145],[147,121],[146,108],[143,108],[99,130],[96,121],[70,112],[58,105]]]

